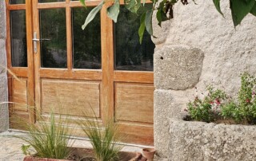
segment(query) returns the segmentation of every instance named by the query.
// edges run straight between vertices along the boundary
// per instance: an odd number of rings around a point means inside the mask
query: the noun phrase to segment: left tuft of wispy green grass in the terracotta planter
[[[40,123],[26,124],[26,130],[26,135],[14,136],[28,143],[22,146],[25,155],[30,155],[29,147],[33,147],[34,156],[39,158],[66,159],[70,155],[68,143],[71,132],[62,116],[51,111],[49,120],[40,116]]]

